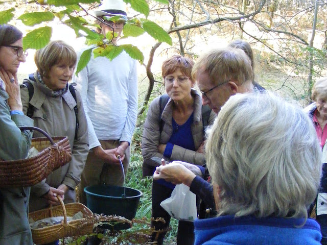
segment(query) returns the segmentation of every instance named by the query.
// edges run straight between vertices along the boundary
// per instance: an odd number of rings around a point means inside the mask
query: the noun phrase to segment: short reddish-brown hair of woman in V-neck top
[[[183,75],[190,78],[193,82],[191,76],[193,65],[194,61],[192,59],[181,55],[174,55],[162,63],[162,78],[165,79],[169,74],[172,74],[179,69]]]

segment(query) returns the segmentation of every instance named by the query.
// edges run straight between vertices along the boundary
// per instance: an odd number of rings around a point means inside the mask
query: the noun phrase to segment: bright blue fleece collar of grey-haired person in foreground
[[[320,226],[314,219],[256,218],[233,215],[196,219],[195,245],[320,244]]]

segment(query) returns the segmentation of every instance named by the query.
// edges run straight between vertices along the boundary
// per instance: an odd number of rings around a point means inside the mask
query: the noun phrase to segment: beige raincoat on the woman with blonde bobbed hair
[[[34,76],[37,79],[37,76]],[[41,85],[39,82],[29,80],[34,87],[34,94],[30,101],[33,105],[34,126],[43,129],[50,136],[68,136],[72,149],[72,160],[66,165],[53,171],[45,181],[31,188],[30,211],[35,211],[48,206],[46,201],[40,198],[50,190],[50,186],[57,188],[61,184],[70,187],[65,194],[65,203],[75,201],[75,187],[80,182],[80,177],[88,155],[88,130],[87,121],[81,101],[81,96],[76,91],[79,130],[78,139],[75,140],[76,116],[74,107],[76,102],[69,89],[62,95],[51,96],[52,90]],[[27,114],[29,106],[29,92],[26,86],[20,87],[23,111]],[[33,137],[44,137],[39,132],[34,132]],[[70,193],[71,192],[71,193]]]

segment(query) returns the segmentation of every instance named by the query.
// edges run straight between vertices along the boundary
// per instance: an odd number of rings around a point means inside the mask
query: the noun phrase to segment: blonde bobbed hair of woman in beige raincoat
[[[37,71],[41,77],[48,77],[52,66],[59,62],[64,62],[68,65],[76,65],[77,55],[74,48],[64,41],[51,41],[48,45],[37,50],[34,55],[34,61]]]

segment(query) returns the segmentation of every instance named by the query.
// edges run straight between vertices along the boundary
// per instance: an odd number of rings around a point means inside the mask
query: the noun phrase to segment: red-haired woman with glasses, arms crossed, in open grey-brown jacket
[[[149,107],[144,125],[142,155],[143,175],[152,176],[159,164],[152,157],[167,161],[180,160],[196,165],[204,163],[204,125],[211,125],[215,113],[208,110],[207,123],[203,121],[201,96],[193,89],[191,78],[193,60],[175,55],[162,64],[168,102],[162,103],[166,95],[157,97]],[[170,215],[160,203],[171,196],[175,185],[164,180],[153,181],[152,216],[162,217],[166,223],[152,222],[155,228],[152,240],[162,244],[169,227]],[[193,244],[193,222],[179,221],[177,244]],[[160,231],[159,231],[160,230]]]

